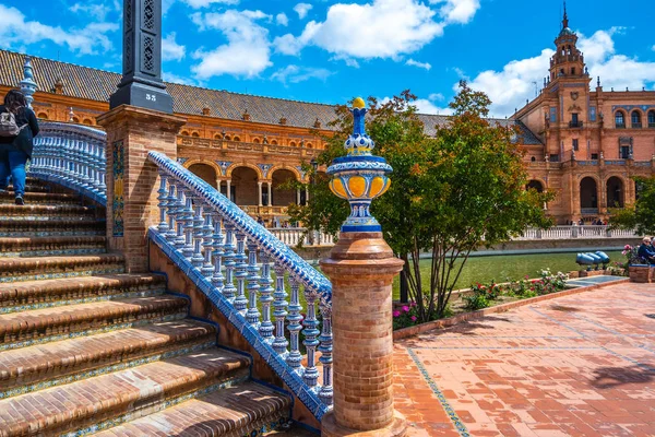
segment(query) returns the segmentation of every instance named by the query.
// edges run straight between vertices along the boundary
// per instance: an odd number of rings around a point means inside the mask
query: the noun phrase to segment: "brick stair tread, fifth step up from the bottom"
[[[165,288],[166,276],[157,274],[94,274],[92,276],[61,277],[0,283],[0,307],[34,302],[37,297],[57,300],[60,296],[74,294],[102,296],[112,288],[160,286]]]

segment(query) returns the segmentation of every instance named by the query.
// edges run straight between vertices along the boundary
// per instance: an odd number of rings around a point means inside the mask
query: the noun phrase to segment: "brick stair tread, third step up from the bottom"
[[[0,354],[0,389],[134,359],[214,333],[211,324],[184,319],[5,351]]]

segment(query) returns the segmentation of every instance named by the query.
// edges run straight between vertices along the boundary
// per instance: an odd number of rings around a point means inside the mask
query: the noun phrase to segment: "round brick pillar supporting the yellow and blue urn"
[[[404,436],[393,409],[392,280],[403,261],[381,233],[342,233],[321,269],[332,281],[334,410],[323,436]]]

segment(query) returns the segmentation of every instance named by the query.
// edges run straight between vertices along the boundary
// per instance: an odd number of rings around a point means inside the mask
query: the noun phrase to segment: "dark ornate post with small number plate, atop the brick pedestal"
[[[162,0],[123,1],[123,75],[109,108],[120,105],[172,114],[162,82]]]

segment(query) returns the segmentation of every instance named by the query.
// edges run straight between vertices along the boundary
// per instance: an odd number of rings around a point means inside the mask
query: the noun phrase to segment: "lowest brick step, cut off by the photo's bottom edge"
[[[96,437],[246,436],[289,420],[291,401],[255,382],[217,390],[159,413],[98,433]]]

